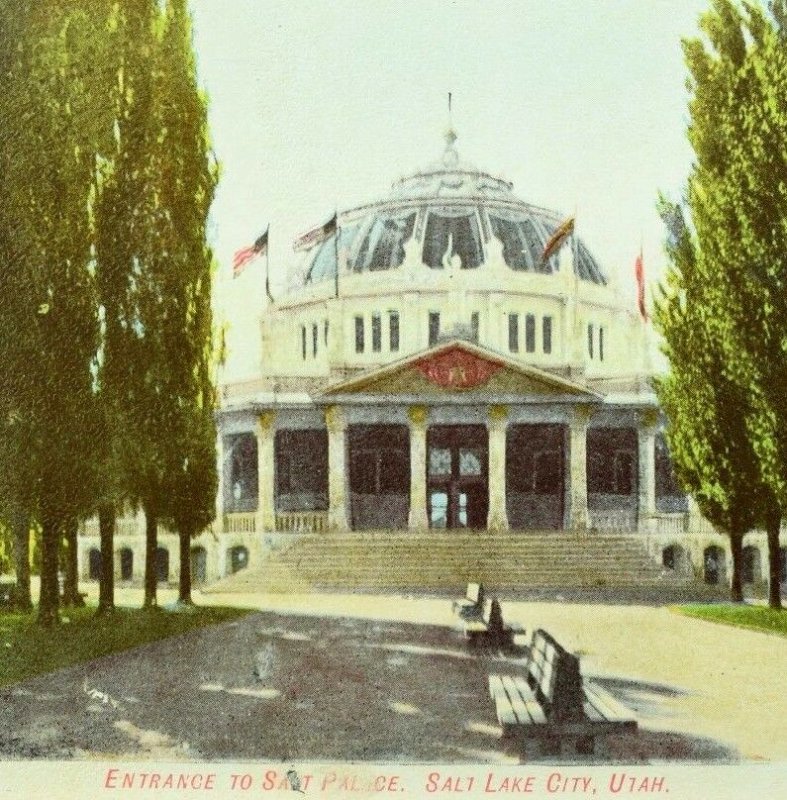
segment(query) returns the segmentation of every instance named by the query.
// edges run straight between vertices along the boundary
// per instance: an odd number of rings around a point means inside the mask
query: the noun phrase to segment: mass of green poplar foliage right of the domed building
[[[694,230],[668,248],[672,276],[660,313],[671,361],[661,391],[665,407],[674,406],[678,471],[694,474],[709,516],[728,530],[733,522],[765,525],[772,605],[780,603],[778,532],[787,509],[784,19],[781,0],[770,12],[713,0],[703,37],[684,42]],[[751,504],[756,520],[746,513]]]

